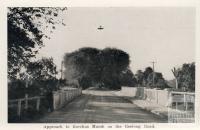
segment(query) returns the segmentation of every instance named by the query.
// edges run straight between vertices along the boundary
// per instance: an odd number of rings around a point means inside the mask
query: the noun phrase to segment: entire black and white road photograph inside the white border
[[[7,7],[8,124],[195,123],[195,7]]]

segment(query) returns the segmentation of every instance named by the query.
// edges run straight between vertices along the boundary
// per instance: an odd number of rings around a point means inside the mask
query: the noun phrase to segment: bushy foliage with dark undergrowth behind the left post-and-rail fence
[[[56,90],[59,82],[56,74],[56,65],[52,58],[30,62],[27,70],[20,74],[20,79],[9,83],[9,98],[24,98],[25,93],[29,96],[46,95]]]

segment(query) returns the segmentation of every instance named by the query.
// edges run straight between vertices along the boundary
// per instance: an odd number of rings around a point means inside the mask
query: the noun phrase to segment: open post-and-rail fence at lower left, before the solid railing
[[[36,97],[30,97],[26,95],[25,98],[21,99],[14,99],[14,100],[8,100],[8,108],[14,108],[17,109],[17,116],[21,117],[22,110],[27,110],[29,108],[29,102],[30,101],[35,101],[36,102],[36,107],[35,109],[37,111],[40,110],[40,101],[41,98],[44,98],[42,96],[36,96]]]

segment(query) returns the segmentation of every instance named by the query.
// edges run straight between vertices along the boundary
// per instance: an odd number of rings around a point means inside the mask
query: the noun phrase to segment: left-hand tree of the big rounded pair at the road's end
[[[99,79],[98,57],[100,50],[84,47],[64,56],[65,78],[69,84],[86,88]],[[87,80],[87,81],[86,81]]]

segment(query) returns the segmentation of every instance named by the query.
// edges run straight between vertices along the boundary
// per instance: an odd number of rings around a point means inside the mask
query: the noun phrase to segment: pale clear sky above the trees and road
[[[37,57],[53,57],[58,69],[65,53],[81,47],[126,51],[133,73],[155,61],[167,80],[173,67],[195,61],[192,7],[71,7],[60,17],[66,26],[57,26]]]

